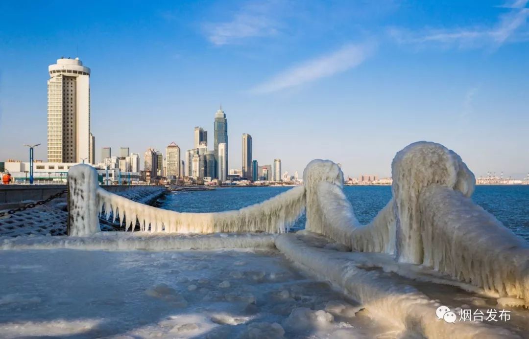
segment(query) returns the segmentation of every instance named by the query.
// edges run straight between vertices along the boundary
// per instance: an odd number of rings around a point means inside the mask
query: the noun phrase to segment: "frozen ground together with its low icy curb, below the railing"
[[[475,286],[418,265],[396,263],[384,253],[351,252],[342,244],[307,231],[279,235],[102,232],[89,238],[4,238],[0,248],[3,263],[0,269],[8,273],[0,278],[0,313],[7,316],[0,327],[2,335],[16,333],[13,331],[19,328],[14,314],[27,318],[30,323],[23,326],[26,329],[49,328],[50,333],[75,333],[74,337],[96,333],[143,337],[150,332],[170,337],[174,331],[183,337],[216,331],[236,337],[254,322],[276,322],[287,337],[311,333],[317,334],[315,337],[406,334],[470,338],[524,337],[529,333],[527,310],[497,306],[496,298],[482,294]],[[37,283],[31,283],[33,279]],[[323,283],[315,283],[313,279]],[[327,283],[346,297],[333,292]],[[297,288],[307,286],[312,286],[309,290],[314,287],[311,293],[323,299],[316,298],[319,300],[316,302],[312,297],[292,295]],[[102,291],[97,291],[98,288]],[[34,293],[30,292],[32,289],[36,289]],[[79,300],[74,297],[77,293],[81,296]],[[149,293],[156,297],[145,297]],[[197,297],[197,293],[202,294]],[[248,305],[241,305],[241,297],[230,293],[247,293],[250,299],[245,299],[245,303],[253,305],[249,306],[251,312],[257,312],[258,316],[245,313]],[[60,298],[63,294],[67,300]],[[256,302],[249,302],[252,296]],[[159,299],[181,305],[163,306]],[[331,299],[341,301],[327,305]],[[348,304],[344,306],[342,302]],[[448,324],[435,316],[441,303],[457,314],[459,308],[482,309],[484,313],[488,308],[505,308],[511,311],[511,319],[493,325],[459,320]],[[83,305],[95,309],[108,307],[110,313],[86,312]],[[323,312],[315,314],[326,306],[333,321]],[[149,312],[136,315],[135,307]],[[299,310],[291,316],[300,318],[294,323],[305,319],[306,324],[289,329],[292,322],[287,321],[288,317],[299,307],[312,309]],[[21,313],[12,313],[19,308]],[[63,311],[54,314],[52,310],[56,308]],[[340,315],[340,312],[354,314],[360,308],[362,311],[354,319]],[[43,314],[44,309],[49,314]],[[75,319],[65,318],[73,314],[77,314]],[[367,318],[372,322],[366,322]],[[178,332],[184,329],[190,332]]]

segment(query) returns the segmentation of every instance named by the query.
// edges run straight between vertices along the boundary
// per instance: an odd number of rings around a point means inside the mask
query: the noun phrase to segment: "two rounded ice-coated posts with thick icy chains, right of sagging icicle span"
[[[419,142],[398,152],[391,168],[391,201],[361,225],[343,193],[340,167],[311,162],[304,172],[306,229],[529,303],[529,244],[470,200],[475,178],[459,155]]]

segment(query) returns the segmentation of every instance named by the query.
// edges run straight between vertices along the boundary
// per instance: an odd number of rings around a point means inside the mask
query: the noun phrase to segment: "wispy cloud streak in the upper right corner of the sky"
[[[457,29],[427,29],[419,32],[392,28],[389,35],[400,44],[427,45],[437,44],[445,47],[459,48],[498,48],[509,40],[524,40],[526,32],[522,31],[527,24],[529,0],[516,0],[500,7],[510,8],[508,13],[500,15],[492,27],[464,27]],[[516,37],[515,34],[518,34]]]

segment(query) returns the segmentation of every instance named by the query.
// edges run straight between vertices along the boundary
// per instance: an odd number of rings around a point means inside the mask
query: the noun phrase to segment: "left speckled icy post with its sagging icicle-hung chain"
[[[112,216],[134,230],[136,222],[144,232],[214,233],[268,232],[282,233],[294,224],[305,209],[305,189],[295,187],[271,199],[240,210],[216,213],[180,213],[163,210],[108,192],[97,184],[93,167],[76,165],[70,168],[68,234],[90,236],[99,232],[99,215]],[[87,181],[86,178],[92,178]],[[89,197],[89,199],[87,199]]]

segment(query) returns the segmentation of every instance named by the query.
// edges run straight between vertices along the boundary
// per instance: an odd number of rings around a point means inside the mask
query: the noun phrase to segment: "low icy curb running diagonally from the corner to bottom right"
[[[439,303],[414,287],[394,284],[377,270],[358,268],[340,257],[333,258],[328,250],[306,246],[295,234],[281,234],[276,238],[276,246],[300,268],[329,281],[361,303],[373,317],[387,319],[396,327],[429,338],[516,337],[507,329],[485,323],[457,322],[447,326],[435,316]]]

